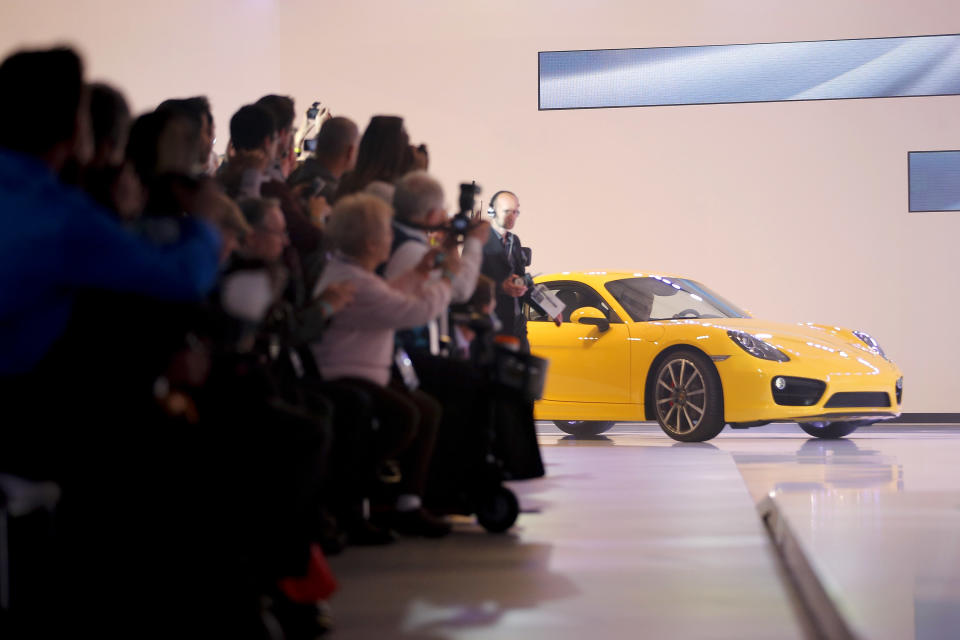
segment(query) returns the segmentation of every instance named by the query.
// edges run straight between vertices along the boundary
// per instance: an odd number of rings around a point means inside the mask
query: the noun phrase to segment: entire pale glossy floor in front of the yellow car
[[[514,486],[509,535],[464,520],[331,559],[335,637],[960,637],[960,428],[540,430],[548,477]]]

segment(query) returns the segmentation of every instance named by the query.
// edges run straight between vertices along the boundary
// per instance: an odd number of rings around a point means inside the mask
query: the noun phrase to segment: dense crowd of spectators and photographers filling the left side
[[[36,637],[321,634],[325,555],[451,530],[491,415],[501,236],[472,190],[451,226],[398,117],[303,140],[268,95],[221,160],[205,98],[132,117],[68,49],[7,58],[0,91],[0,495],[55,496],[0,541],[0,615]]]

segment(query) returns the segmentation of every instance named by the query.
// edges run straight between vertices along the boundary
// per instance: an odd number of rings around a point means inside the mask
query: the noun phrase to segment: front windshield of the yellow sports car
[[[606,287],[634,322],[750,317],[693,280],[647,276],[613,280]]]

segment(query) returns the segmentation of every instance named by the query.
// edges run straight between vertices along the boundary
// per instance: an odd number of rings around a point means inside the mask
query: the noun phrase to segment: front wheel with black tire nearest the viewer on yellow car
[[[723,431],[723,387],[713,363],[692,349],[674,351],[653,377],[654,417],[680,442],[703,442]]]

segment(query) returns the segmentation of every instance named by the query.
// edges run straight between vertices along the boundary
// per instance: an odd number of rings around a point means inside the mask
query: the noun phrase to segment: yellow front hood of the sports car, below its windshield
[[[888,360],[872,351],[849,329],[812,323],[785,324],[756,318],[710,318],[669,320],[661,323],[694,325],[714,331],[744,331],[777,347],[791,358],[836,359],[850,358],[868,366],[886,368]],[[667,329],[669,330],[669,329]]]

